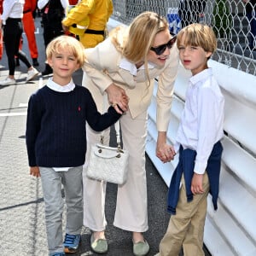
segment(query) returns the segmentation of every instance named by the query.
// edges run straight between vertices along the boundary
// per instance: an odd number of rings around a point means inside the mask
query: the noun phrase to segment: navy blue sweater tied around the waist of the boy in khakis
[[[212,153],[207,161],[207,175],[210,183],[210,194],[212,195],[212,204],[214,210],[217,210],[218,189],[219,189],[219,174],[221,165],[221,154],[223,151],[220,142],[215,143],[212,148]],[[182,146],[179,148],[179,160],[175,171],[173,172],[171,183],[168,191],[167,212],[176,214],[177,201],[179,197],[179,185],[182,174],[184,174],[185,187],[187,193],[187,201],[193,200],[191,192],[191,182],[194,175],[196,151]]]

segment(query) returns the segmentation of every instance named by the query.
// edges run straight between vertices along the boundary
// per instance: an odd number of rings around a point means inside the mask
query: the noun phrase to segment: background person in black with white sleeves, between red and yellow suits
[[[64,34],[61,20],[64,18],[65,9],[67,9],[68,0],[38,0],[38,9],[42,13],[42,25],[44,26],[44,45],[45,48],[49,42]],[[52,73],[52,68],[45,63],[42,75]]]

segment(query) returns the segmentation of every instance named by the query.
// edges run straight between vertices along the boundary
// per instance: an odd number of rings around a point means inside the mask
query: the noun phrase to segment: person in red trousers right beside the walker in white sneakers
[[[25,0],[23,9],[23,27],[26,33],[28,48],[32,57],[33,66],[39,66],[38,63],[38,46],[35,37],[35,22],[33,12],[37,8],[37,0]]]

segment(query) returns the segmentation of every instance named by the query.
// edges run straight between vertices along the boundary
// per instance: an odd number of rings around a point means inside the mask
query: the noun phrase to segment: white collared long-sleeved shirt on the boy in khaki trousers
[[[196,151],[194,172],[206,171],[213,145],[224,136],[224,96],[207,68],[189,79],[185,106],[177,130],[175,151],[180,145]]]

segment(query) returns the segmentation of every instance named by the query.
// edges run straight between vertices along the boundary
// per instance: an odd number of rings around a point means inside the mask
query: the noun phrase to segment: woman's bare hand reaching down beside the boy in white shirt
[[[156,144],[156,156],[163,162],[167,163],[173,160],[176,152],[171,145],[166,144],[166,131],[159,131],[157,144]]]

